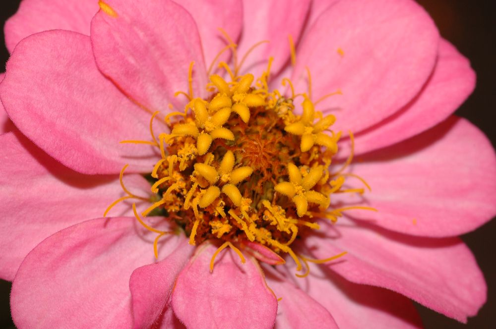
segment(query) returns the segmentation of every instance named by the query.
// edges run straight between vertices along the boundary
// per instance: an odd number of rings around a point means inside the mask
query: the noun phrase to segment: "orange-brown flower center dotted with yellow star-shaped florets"
[[[230,246],[243,261],[236,246],[251,243],[288,253],[300,270],[306,258],[291,245],[319,228],[315,218],[335,221],[345,210],[329,209],[333,193],[347,192],[343,170],[330,171],[341,134],[331,130],[334,115],[315,111],[310,91],[285,97],[270,90],[270,63],[256,80],[221,63],[231,79],[210,75],[207,99],[193,97],[191,85],[189,94],[178,93],[189,102],[184,112],[166,116],[170,133],[157,141],[152,131],[149,144],[162,154],[151,173],[157,200],[141,216],[163,215],[184,228],[190,244],[218,240],[223,242],[218,251]],[[293,91],[291,81],[283,80],[288,83]],[[295,104],[301,104],[301,114]],[[166,232],[147,226],[133,209],[145,227],[160,234],[156,251]]]

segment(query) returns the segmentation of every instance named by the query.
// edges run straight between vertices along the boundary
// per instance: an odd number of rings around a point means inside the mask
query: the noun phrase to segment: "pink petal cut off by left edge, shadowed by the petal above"
[[[115,176],[89,176],[57,163],[20,133],[0,136],[0,277],[12,280],[38,243],[64,227],[101,217],[124,192]],[[140,175],[124,177],[133,193]],[[132,178],[134,184],[129,185]],[[141,193],[142,194],[142,193]],[[118,204],[110,215],[130,215]]]

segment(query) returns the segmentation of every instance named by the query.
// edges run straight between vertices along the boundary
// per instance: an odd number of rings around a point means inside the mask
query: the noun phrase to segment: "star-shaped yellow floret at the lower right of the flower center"
[[[275,186],[275,190],[293,200],[296,205],[298,217],[307,213],[308,204],[318,204],[322,208],[329,205],[329,198],[322,193],[311,189],[322,178],[322,166],[310,169],[305,177],[302,177],[300,169],[295,164],[288,164],[289,182],[282,182]]]

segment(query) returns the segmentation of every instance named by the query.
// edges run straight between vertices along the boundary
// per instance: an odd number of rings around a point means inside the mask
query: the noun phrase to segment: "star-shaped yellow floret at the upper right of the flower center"
[[[333,153],[337,152],[337,141],[340,134],[329,136],[323,133],[336,121],[336,117],[329,114],[313,124],[315,119],[315,108],[310,99],[305,98],[302,103],[303,113],[299,121],[288,124],[284,130],[290,134],[302,136],[300,148],[302,152],[309,151],[313,145],[325,146]],[[320,113],[322,114],[322,113]]]

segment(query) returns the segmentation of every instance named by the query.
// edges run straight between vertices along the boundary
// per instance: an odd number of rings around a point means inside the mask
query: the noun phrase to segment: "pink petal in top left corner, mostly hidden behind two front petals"
[[[91,18],[97,11],[98,1],[94,0],[23,0],[5,22],[5,45],[12,53],[25,37],[55,29],[89,35]]]

